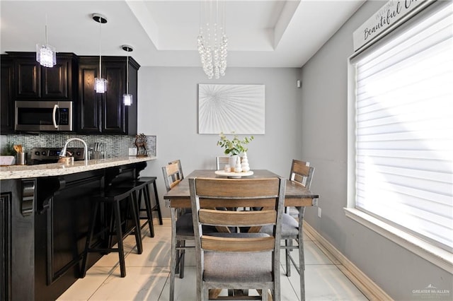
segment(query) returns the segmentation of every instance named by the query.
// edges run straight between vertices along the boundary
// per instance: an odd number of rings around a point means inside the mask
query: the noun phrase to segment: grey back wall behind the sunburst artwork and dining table
[[[198,130],[199,83],[264,84],[265,134],[248,145],[251,170],[268,169],[288,177],[292,158],[300,154],[300,69],[227,68],[226,76],[208,80],[200,68],[142,67],[139,69],[139,133],[157,136],[157,160],[143,175],[158,177],[161,204],[166,189],[161,167],[180,159],[184,175],[196,169],[214,169],[215,157],[224,155],[216,134]],[[243,135],[241,135],[242,137]],[[168,209],[165,215],[169,216]]]

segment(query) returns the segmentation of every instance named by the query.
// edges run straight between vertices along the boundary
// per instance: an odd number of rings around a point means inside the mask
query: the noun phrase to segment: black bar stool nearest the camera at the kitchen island
[[[121,277],[126,276],[126,266],[125,266],[125,252],[124,252],[124,247],[122,240],[123,238],[128,235],[130,232],[134,231],[135,235],[135,242],[137,243],[137,253],[142,254],[143,252],[143,247],[142,247],[142,235],[141,235],[141,227],[140,223],[138,220],[138,214],[137,214],[137,205],[134,201],[134,189],[131,189],[130,187],[115,187],[112,188],[108,191],[105,192],[104,196],[94,196],[92,198],[93,200],[93,210],[91,211],[91,217],[90,217],[90,225],[88,228],[88,236],[86,237],[86,244],[85,244],[85,249],[84,249],[84,257],[82,261],[82,266],[81,266],[81,278],[84,278],[86,275],[86,270],[87,270],[87,265],[88,265],[88,253],[91,252],[96,252],[96,253],[102,253],[102,252],[118,252],[118,256],[120,259],[120,272],[121,272]],[[120,213],[120,201],[127,201],[127,206],[130,207],[131,211],[131,216],[134,225],[132,226],[131,229],[127,229],[127,216],[125,220],[121,219],[121,213]],[[99,224],[98,220],[98,211],[99,211],[99,206],[101,204],[107,204],[110,203],[112,206],[112,211],[113,213],[110,214],[110,216],[105,216],[105,219],[110,218],[110,222],[107,225],[103,225],[101,227],[101,230],[95,233],[95,228],[96,224]],[[103,217],[101,217],[102,220]],[[125,233],[122,232],[122,225],[125,225]],[[101,235],[104,235],[105,232],[107,232],[107,242],[102,242],[102,243],[107,243],[106,247],[98,247],[96,245],[92,246],[92,240],[93,238],[96,237],[101,237]],[[116,236],[117,238],[117,248],[110,247],[112,244],[112,238],[113,235]],[[124,235],[124,236],[123,236]]]

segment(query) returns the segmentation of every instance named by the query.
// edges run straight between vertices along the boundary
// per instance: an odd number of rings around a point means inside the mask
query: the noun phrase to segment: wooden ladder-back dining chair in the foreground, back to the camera
[[[280,300],[280,228],[285,179],[189,178],[197,261],[197,300],[209,300],[209,290],[260,291]],[[260,211],[213,208],[262,207]],[[259,228],[269,225],[271,235]],[[215,226],[219,232],[207,232]],[[229,232],[246,227],[248,232]],[[222,230],[223,229],[223,230]],[[247,297],[244,297],[247,299]]]

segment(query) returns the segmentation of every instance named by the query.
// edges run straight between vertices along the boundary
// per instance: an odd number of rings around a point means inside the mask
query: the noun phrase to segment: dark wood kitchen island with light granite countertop
[[[155,159],[0,167],[0,299],[55,300],[67,290],[79,278],[91,196],[137,179]]]

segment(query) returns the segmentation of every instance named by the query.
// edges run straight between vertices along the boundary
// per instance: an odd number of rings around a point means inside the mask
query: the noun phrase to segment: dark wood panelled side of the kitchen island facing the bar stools
[[[37,179],[35,300],[55,300],[79,278],[92,195],[103,187],[103,170]],[[90,256],[91,264],[101,254]]]

